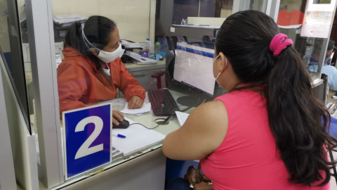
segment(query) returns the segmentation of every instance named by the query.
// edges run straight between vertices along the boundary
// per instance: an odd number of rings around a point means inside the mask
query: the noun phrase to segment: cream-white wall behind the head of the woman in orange
[[[121,39],[144,42],[149,38],[151,0],[52,0],[52,2],[53,15],[74,13],[84,17],[103,15],[117,23]]]

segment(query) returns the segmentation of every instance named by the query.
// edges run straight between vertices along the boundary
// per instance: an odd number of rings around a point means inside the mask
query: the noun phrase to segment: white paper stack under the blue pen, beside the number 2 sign
[[[112,146],[118,147],[120,151],[124,152],[124,156],[136,153],[145,148],[150,148],[165,139],[165,135],[156,132],[152,129],[146,129],[142,125],[132,125],[136,122],[125,118],[130,123],[127,129],[112,129]],[[122,139],[115,135],[122,134],[126,138]]]

